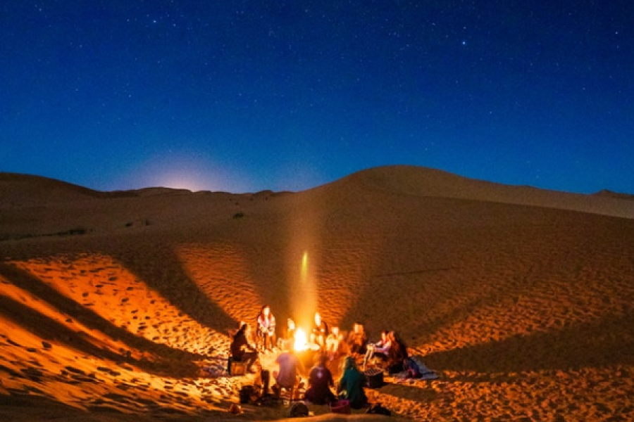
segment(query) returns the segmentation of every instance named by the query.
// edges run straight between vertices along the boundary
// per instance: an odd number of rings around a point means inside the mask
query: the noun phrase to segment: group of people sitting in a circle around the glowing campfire
[[[275,384],[272,389],[275,395],[279,396],[282,390],[306,387],[301,378],[301,374],[306,373],[306,367],[295,350],[297,327],[294,321],[287,319],[283,333],[278,338],[275,316],[271,307],[266,305],[259,312],[255,325],[255,341],[250,342],[249,324],[240,324],[232,336],[231,359],[243,362],[247,371],[255,373],[252,366],[260,353],[278,352],[275,364],[278,364],[279,369],[273,371]],[[310,356],[314,357],[311,359],[314,365],[309,371],[304,399],[313,404],[328,404],[339,397],[349,400],[353,409],[361,409],[368,403],[363,390],[366,385],[364,371],[368,365],[375,366],[380,362],[380,367],[387,373],[399,373],[406,369],[404,362],[408,357],[405,344],[394,331],[383,331],[380,339],[371,343],[363,324],[355,323],[352,330],[344,335],[336,326],[329,328],[318,312],[302,348],[309,350]],[[335,384],[331,369],[335,369],[332,365],[341,362],[341,359],[342,376]]]

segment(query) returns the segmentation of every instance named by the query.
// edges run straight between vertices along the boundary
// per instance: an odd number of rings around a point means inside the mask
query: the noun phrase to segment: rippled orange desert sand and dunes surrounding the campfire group
[[[634,421],[631,196],[407,166],[252,194],[0,174],[2,421],[284,418],[228,413],[254,381],[223,373],[228,333],[265,303],[397,331],[440,378],[368,389],[395,418]]]

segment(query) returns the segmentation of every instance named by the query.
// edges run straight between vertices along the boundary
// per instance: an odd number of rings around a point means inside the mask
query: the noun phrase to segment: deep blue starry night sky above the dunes
[[[2,0],[0,172],[299,191],[379,165],[634,193],[631,0]]]

